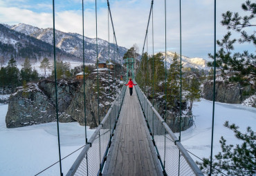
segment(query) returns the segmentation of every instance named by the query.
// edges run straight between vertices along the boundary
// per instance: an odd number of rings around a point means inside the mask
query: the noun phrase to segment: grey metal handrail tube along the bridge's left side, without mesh
[[[120,108],[121,108],[122,101],[123,101],[123,99],[125,97],[125,90],[126,90],[126,86],[123,86],[121,91],[120,91],[120,93],[119,93],[119,95],[118,95],[118,97],[116,97],[115,101],[113,101],[113,103],[112,103],[111,107],[109,108],[107,114],[104,116],[104,118],[102,119],[100,125],[98,126],[98,128],[96,128],[96,130],[93,133],[93,135],[91,135],[90,139],[88,140],[87,144],[84,146],[84,148],[81,151],[80,155],[78,155],[78,157],[75,160],[74,164],[68,170],[68,173],[66,174],[66,176],[73,176],[73,175],[75,175],[75,173],[77,171],[77,168],[79,168],[80,164],[82,163],[82,160],[84,159],[84,157],[88,153],[89,149],[91,147],[93,147],[93,142],[97,138],[97,135],[100,133],[100,130],[102,130],[102,127],[104,126],[105,122],[107,121],[107,119],[109,119],[109,117],[111,115],[111,111],[113,110],[114,105],[118,102],[118,99],[120,99],[120,101],[121,101],[120,102]],[[118,112],[120,113],[120,109],[118,110]],[[119,116],[119,114],[115,117],[115,119],[118,119],[118,116]],[[116,126],[116,123],[117,123],[117,120],[115,120],[115,126]],[[111,131],[115,128],[115,126],[111,127]],[[110,137],[109,141],[111,141],[111,137]]]

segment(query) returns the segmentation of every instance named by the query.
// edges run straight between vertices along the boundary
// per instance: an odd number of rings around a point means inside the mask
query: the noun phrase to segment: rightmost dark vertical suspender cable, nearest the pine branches
[[[210,175],[212,175],[212,146],[213,146],[213,130],[214,130],[215,79],[216,79],[216,0],[214,0],[214,73],[213,73],[213,97],[212,97],[212,141],[211,141],[211,147],[210,147]]]

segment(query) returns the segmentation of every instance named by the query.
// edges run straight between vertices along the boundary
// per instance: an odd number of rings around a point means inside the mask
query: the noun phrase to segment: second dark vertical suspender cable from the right
[[[181,43],[181,0],[180,0],[180,52],[182,51],[181,50],[181,46],[182,46],[182,43]],[[182,52],[181,52],[181,55],[182,55]],[[181,57],[180,55],[180,57]],[[182,58],[181,58],[181,61],[182,61]],[[180,112],[179,112],[179,119],[180,119],[180,124],[179,124],[179,130],[180,130],[180,134],[179,134],[179,141],[181,141],[181,98],[182,98],[182,95],[181,95],[181,91],[182,91],[182,77],[181,77],[181,65],[180,65],[180,81],[181,81],[181,86],[180,86]],[[181,151],[179,150],[179,174],[180,174],[180,166],[181,166]]]

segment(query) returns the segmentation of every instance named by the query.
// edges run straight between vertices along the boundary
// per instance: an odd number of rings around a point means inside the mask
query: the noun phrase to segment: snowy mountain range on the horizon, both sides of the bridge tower
[[[55,30],[55,43],[57,59],[82,61],[82,35]],[[84,48],[86,62],[95,63],[97,60],[96,39],[84,37]],[[122,61],[127,48],[118,46],[118,50],[119,54],[116,52],[114,43],[109,45],[108,41],[98,39],[98,59],[100,61],[107,61],[109,56],[112,61],[119,62],[119,59]],[[24,23],[13,26],[0,24],[1,56],[6,61],[13,56],[21,63],[26,57],[31,61],[41,61],[44,57],[53,59],[53,28],[37,28]],[[165,56],[165,52],[163,52],[163,56]],[[167,68],[172,63],[173,57],[174,52],[167,52]],[[182,56],[182,63],[184,67],[209,70],[207,61],[202,58]]]

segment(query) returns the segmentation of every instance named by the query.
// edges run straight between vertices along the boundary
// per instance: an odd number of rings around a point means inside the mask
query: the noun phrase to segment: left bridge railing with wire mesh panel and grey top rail
[[[66,175],[99,175],[102,172],[113,130],[116,128],[122,101],[125,97],[125,90],[126,86],[123,86],[104,119],[102,119]]]

